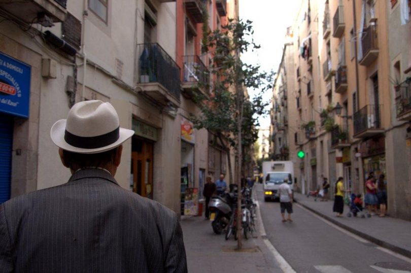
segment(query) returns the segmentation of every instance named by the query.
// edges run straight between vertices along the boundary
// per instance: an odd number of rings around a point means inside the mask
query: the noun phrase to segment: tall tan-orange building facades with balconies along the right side
[[[304,151],[295,164],[302,192],[342,176],[364,193],[371,172],[384,174],[389,213],[411,219],[404,7],[409,1],[302,1],[292,26],[300,124],[290,153]]]

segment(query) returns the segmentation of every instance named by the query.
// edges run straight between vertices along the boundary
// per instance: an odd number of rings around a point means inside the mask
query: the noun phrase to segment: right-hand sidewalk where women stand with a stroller
[[[328,221],[355,233],[356,235],[384,248],[411,258],[411,222],[391,217],[372,216],[371,218],[347,217],[348,206],[344,207],[344,217],[335,217],[332,212],[333,201],[320,202],[313,197],[294,193],[294,199],[306,209]]]

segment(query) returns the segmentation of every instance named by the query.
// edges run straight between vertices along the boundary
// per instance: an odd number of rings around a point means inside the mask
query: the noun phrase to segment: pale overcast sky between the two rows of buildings
[[[234,1],[234,0],[229,0]],[[277,71],[281,61],[286,28],[295,20],[301,0],[238,0],[239,16],[243,20],[253,21],[254,41],[261,48],[257,53],[247,53],[243,61],[259,64],[265,71]],[[249,90],[250,95],[252,95]],[[271,99],[266,92],[265,100]],[[269,127],[269,116],[260,119],[261,127]]]

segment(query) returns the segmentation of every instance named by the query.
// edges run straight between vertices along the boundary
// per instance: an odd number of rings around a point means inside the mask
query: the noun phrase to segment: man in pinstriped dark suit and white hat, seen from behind
[[[187,272],[176,214],[114,179],[134,134],[119,124],[110,103],[90,100],[53,125],[72,176],[0,205],[0,271]]]

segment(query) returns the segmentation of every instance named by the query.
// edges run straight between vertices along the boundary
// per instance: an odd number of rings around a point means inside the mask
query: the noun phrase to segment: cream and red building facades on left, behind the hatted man
[[[209,133],[188,119],[198,112],[190,68],[207,69],[193,3],[202,2],[0,1],[1,203],[68,180],[50,128],[75,102],[99,99],[135,131],[123,144],[120,186],[180,213],[182,181],[201,188],[215,172]],[[211,1],[212,27],[236,10],[236,1]]]

